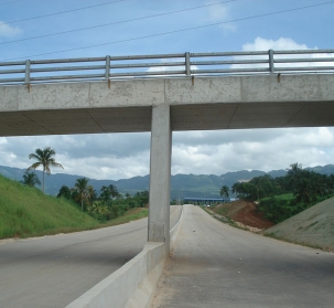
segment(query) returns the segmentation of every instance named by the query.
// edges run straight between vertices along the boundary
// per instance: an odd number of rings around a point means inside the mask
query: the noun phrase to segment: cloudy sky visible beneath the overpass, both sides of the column
[[[52,147],[63,169],[52,172],[93,179],[146,176],[150,134],[105,134],[0,139],[0,164],[26,168],[29,153]],[[6,141],[3,141],[6,140]],[[243,169],[270,171],[293,162],[333,163],[334,128],[278,128],[173,132],[172,174],[223,174]]]

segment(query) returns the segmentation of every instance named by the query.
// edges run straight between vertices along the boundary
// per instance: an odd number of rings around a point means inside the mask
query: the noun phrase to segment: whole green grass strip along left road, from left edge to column
[[[0,176],[0,238],[68,233],[110,226],[148,215],[148,209],[115,201],[114,216],[80,210],[79,202],[44,194],[41,190]],[[130,197],[128,202],[132,198]],[[138,204],[134,203],[131,204]],[[140,203],[142,204],[142,203]],[[85,203],[87,208],[90,205]],[[127,211],[125,211],[127,209]]]

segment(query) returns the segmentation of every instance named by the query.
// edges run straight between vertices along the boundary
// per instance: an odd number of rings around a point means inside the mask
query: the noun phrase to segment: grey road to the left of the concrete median
[[[181,206],[171,206],[171,227]],[[0,307],[65,307],[141,252],[148,220],[0,241]]]

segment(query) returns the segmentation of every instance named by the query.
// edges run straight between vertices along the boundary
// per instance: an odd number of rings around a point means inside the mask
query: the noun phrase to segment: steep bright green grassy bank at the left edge
[[[0,238],[89,230],[98,222],[76,205],[0,176]]]

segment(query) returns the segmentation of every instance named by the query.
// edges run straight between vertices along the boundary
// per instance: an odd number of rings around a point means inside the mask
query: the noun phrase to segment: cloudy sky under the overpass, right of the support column
[[[270,171],[288,168],[297,161],[303,167],[333,163],[334,128],[192,131],[174,135],[174,174],[223,174],[243,169]],[[200,135],[202,142],[198,141]]]

